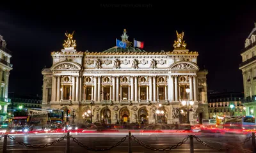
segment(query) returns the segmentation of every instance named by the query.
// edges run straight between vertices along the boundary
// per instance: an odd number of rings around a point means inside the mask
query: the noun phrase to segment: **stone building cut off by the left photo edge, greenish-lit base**
[[[8,98],[9,75],[12,70],[11,57],[12,52],[6,48],[6,41],[0,35],[0,123],[5,121],[7,106],[11,102]]]

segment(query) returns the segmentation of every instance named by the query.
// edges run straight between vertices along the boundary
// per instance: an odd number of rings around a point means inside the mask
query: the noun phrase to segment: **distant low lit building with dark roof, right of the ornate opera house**
[[[208,112],[211,119],[216,118],[216,115],[245,115],[243,92],[210,92],[208,98]],[[234,108],[231,108],[230,105],[234,105]]]

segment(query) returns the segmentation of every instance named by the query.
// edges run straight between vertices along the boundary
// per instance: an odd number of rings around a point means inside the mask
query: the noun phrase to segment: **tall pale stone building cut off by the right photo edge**
[[[245,40],[241,50],[242,63],[239,69],[243,72],[244,106],[246,115],[256,115],[256,23]]]

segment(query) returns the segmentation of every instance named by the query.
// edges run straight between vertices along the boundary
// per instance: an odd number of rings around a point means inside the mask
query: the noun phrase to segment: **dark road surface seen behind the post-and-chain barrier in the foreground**
[[[120,141],[125,135],[128,133],[71,133],[71,135],[76,138],[79,142],[87,145],[88,147],[96,148],[96,149],[104,149],[115,145],[118,141]],[[218,149],[231,147],[236,148],[231,150],[225,150],[222,152],[234,152],[234,153],[246,153],[252,152],[252,138],[249,142],[246,142],[244,145],[241,145],[241,142],[244,142],[244,139],[249,135],[241,135],[241,134],[220,134],[220,133],[191,133],[193,135],[198,136],[200,140],[205,143],[216,147]],[[15,138],[15,142],[8,138],[7,151],[8,152],[36,152],[36,153],[63,153],[65,152],[65,146],[67,143],[67,139],[59,143],[55,143],[52,146],[45,148],[29,148],[26,146],[20,145],[18,142],[24,142],[32,145],[44,145],[49,142],[53,142],[54,140],[58,140],[61,136],[66,135],[66,133],[51,133],[51,134],[25,134],[25,135],[12,135]],[[156,147],[157,149],[164,149],[166,147],[172,147],[172,145],[176,145],[179,142],[182,142],[184,138],[186,138],[190,133],[134,133],[134,136],[138,138],[141,142],[146,145],[150,145],[150,147]],[[198,143],[196,139],[193,139],[194,142],[194,152],[218,152],[218,150],[213,150],[209,147],[205,147],[201,143]],[[132,152],[143,153],[143,152],[156,152],[153,150],[149,150],[141,147],[140,144],[136,143],[133,139],[131,142]],[[0,150],[3,149],[3,138],[0,141]],[[97,151],[97,152],[128,152],[128,138],[118,145],[118,147],[114,147],[111,150],[106,151]],[[77,145],[76,142],[72,138],[70,138],[70,153],[76,152],[95,152],[93,150],[89,151]],[[189,138],[188,140],[182,144],[180,147],[170,151],[164,152],[189,152]]]

